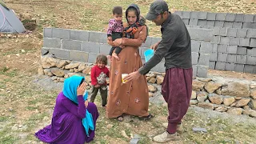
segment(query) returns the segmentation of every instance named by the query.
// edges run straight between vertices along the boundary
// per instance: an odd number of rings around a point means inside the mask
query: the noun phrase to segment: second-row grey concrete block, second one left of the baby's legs
[[[99,54],[100,43],[97,42],[82,42],[81,50],[87,53]]]

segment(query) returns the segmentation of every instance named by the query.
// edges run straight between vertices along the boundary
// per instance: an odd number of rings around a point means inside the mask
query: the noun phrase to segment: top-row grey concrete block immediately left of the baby
[[[89,32],[89,42],[107,43],[106,42],[106,33],[90,31]]]

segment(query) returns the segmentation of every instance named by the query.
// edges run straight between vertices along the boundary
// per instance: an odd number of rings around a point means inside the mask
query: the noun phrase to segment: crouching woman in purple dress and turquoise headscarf
[[[66,78],[56,98],[51,124],[35,133],[42,142],[84,144],[94,139],[98,109],[87,101],[84,79],[80,76]]]

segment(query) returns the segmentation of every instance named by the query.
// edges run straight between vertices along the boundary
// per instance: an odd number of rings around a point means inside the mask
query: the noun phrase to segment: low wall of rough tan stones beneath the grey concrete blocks
[[[38,74],[48,75],[54,82],[64,82],[65,78],[74,74],[82,75],[85,76],[86,88],[90,91],[90,70],[93,64],[52,58],[50,54],[42,56],[41,60],[42,66],[39,67]],[[146,74],[150,98],[154,98],[159,92],[157,86],[162,85],[164,76],[165,73],[159,72]],[[195,78],[190,104],[219,112],[256,117],[256,82],[230,82],[223,79]]]

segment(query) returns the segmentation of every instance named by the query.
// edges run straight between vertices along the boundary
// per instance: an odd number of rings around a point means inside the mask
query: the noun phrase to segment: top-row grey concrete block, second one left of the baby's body
[[[85,30],[70,30],[70,39],[88,42],[89,31]]]

